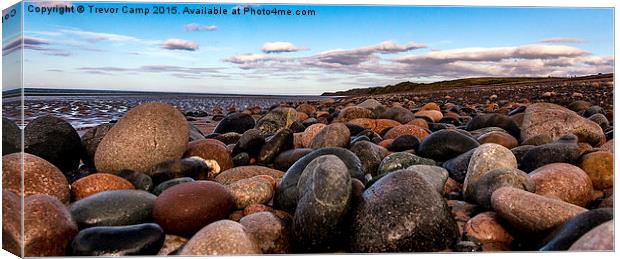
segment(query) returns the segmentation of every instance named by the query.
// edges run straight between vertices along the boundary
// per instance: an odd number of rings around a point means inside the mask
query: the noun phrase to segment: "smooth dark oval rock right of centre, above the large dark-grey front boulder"
[[[440,130],[422,140],[417,153],[435,161],[446,161],[479,145],[475,139],[456,130]]]

